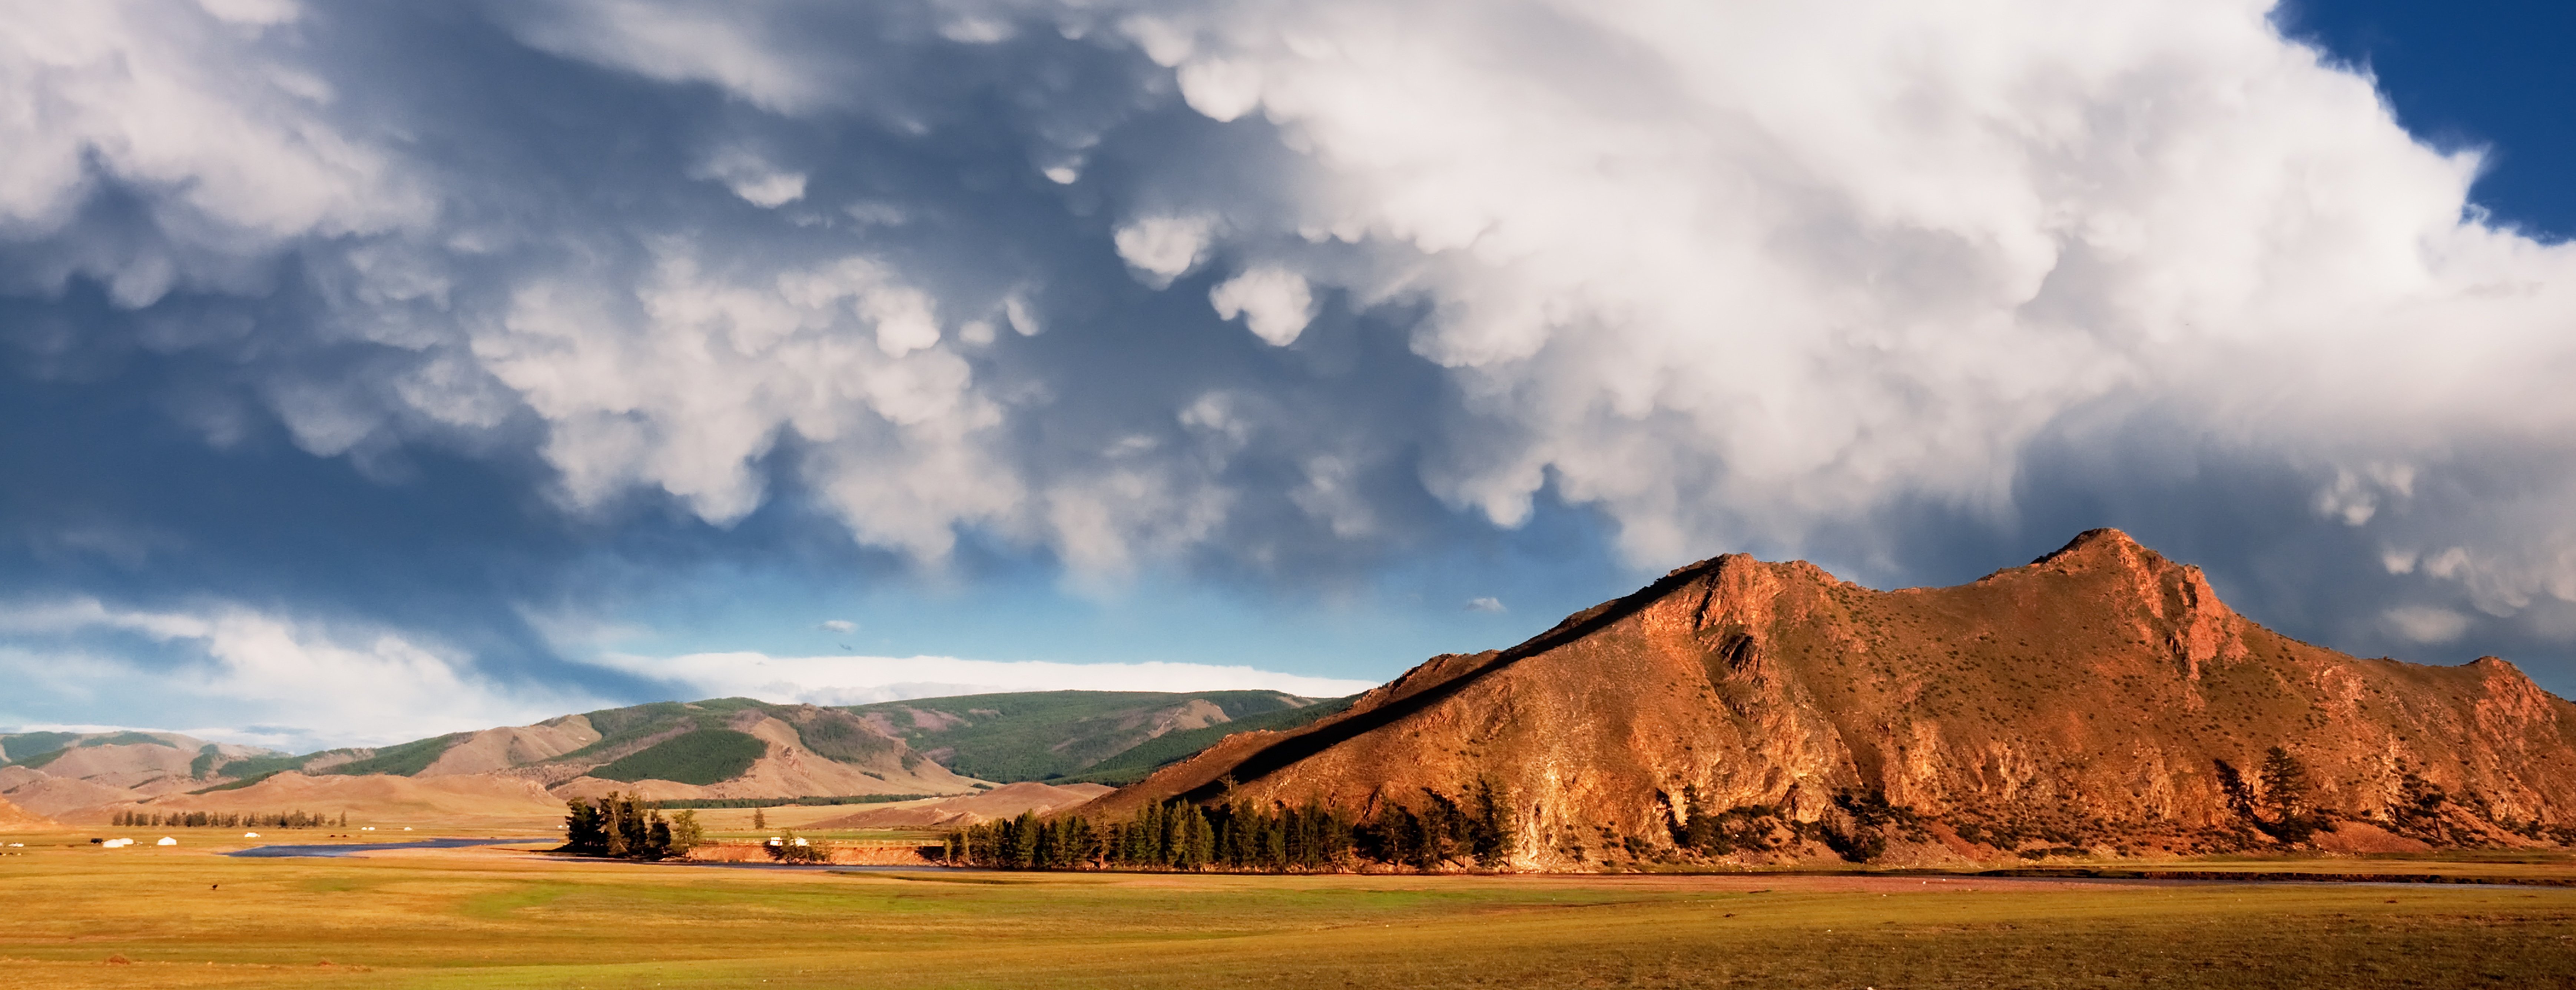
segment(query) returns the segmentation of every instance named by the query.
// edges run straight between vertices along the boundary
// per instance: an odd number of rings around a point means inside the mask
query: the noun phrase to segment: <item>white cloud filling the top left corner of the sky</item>
[[[258,286],[242,255],[291,237],[425,222],[399,160],[332,126],[332,85],[260,31],[294,18],[250,0],[0,5],[0,240],[67,237],[8,281],[85,273],[144,307],[175,286]],[[70,229],[100,180],[152,191],[155,240]]]

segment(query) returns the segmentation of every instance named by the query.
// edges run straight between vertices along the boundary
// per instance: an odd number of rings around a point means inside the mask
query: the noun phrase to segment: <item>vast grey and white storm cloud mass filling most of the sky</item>
[[[0,93],[26,382],[546,539],[1262,585],[1564,505],[1904,583],[2117,521],[2357,650],[2576,639],[2576,248],[2267,3],[15,3]],[[201,541],[75,508],[18,585]]]

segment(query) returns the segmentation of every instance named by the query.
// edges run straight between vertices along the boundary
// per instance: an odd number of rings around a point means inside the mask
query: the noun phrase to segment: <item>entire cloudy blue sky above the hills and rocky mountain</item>
[[[2568,28],[0,0],[0,727],[1327,696],[2094,526],[2568,694]]]

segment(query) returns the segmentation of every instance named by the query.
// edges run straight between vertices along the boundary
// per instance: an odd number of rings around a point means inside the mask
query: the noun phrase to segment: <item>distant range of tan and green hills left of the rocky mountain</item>
[[[1229,732],[1303,724],[1342,704],[1278,691],[1030,691],[850,709],[708,699],[301,755],[178,732],[21,732],[0,735],[0,797],[70,820],[142,807],[260,810],[250,804],[263,799],[332,802],[301,807],[309,812],[453,804],[459,815],[489,817],[526,786],[546,799],[605,791],[786,799],[971,794],[987,781],[1074,784],[1074,776],[1128,784]],[[428,791],[332,784],[451,776],[495,779],[497,797],[477,797],[484,791],[469,784]],[[276,807],[286,810],[299,807]]]

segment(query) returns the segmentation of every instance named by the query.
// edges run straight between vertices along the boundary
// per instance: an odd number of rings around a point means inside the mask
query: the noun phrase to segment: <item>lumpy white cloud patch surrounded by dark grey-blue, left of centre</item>
[[[783,433],[811,446],[809,482],[860,539],[925,559],[1012,505],[979,443],[999,412],[940,348],[930,296],[884,266],[734,271],[672,242],[634,289],[634,322],[605,317],[629,304],[616,291],[533,284],[474,340],[549,425],[572,505],[644,482],[732,523],[765,498],[755,461]]]

